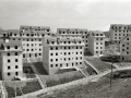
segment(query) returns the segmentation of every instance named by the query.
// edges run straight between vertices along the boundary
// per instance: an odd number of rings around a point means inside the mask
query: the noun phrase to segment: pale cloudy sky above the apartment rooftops
[[[108,30],[110,24],[131,24],[130,0],[0,0],[0,27],[20,25]]]

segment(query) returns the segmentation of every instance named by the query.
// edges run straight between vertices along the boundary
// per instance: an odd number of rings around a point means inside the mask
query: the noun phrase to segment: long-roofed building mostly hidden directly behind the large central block
[[[86,28],[57,28],[57,36],[81,37],[85,44],[84,50],[88,50],[88,30]]]

